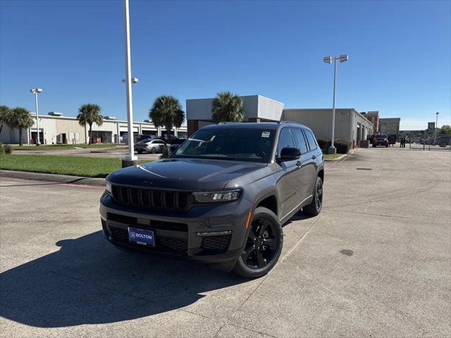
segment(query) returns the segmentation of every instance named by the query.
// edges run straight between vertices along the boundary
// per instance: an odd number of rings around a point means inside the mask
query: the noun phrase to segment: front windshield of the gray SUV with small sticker
[[[276,130],[208,128],[199,130],[173,157],[216,158],[268,163]]]

